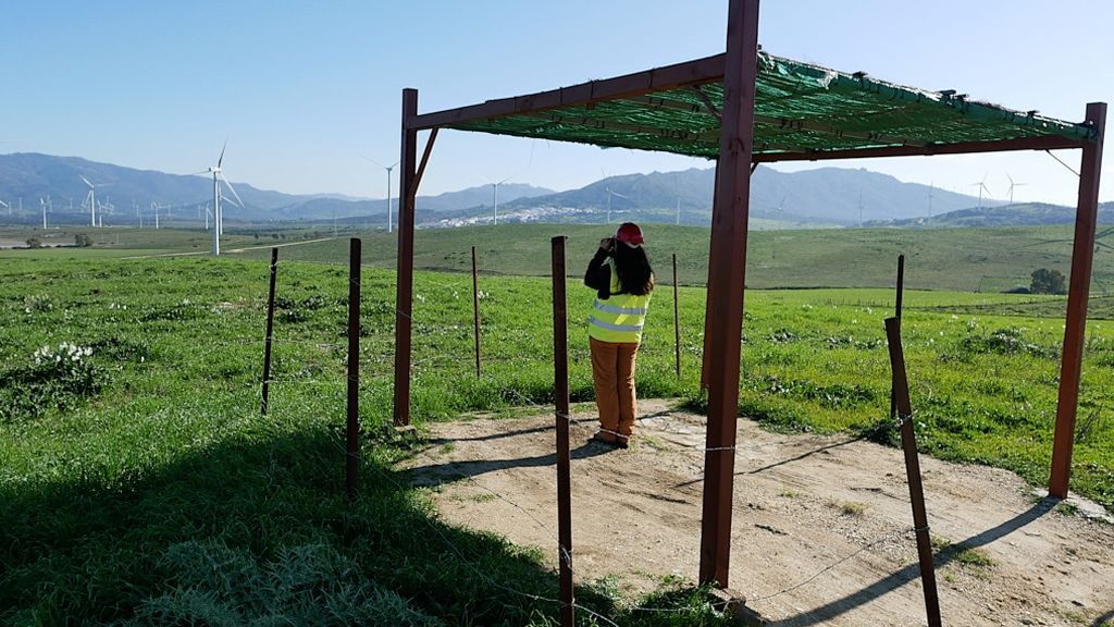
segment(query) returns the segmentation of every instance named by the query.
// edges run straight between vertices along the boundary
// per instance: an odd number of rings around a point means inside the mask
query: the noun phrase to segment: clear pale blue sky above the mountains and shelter
[[[403,87],[427,112],[606,78],[720,52],[725,19],[725,0],[6,0],[0,151],[188,173],[227,136],[233,181],[382,196],[383,172],[360,153],[398,160]],[[1013,108],[1077,120],[1087,102],[1114,100],[1114,2],[765,0],[761,25],[775,55]],[[1062,156],[1077,166],[1077,152]],[[422,193],[710,165],[446,132]],[[1018,200],[1074,202],[1077,185],[1044,153],[840,165],[967,193],[986,176],[997,197],[1009,173],[1026,183]]]

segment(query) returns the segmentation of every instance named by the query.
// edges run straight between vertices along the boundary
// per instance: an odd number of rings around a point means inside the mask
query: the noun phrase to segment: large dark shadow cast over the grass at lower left
[[[508,591],[556,598],[551,569],[500,538],[439,521],[401,478],[369,456],[374,446],[364,448],[361,493],[352,503],[344,499],[340,425],[260,427],[165,463],[127,460],[135,467],[123,473],[90,467],[74,479],[6,482],[0,624],[207,624],[188,614],[188,604],[177,606],[179,615],[160,615],[166,620],[144,618],[147,604],[182,594],[245,620],[266,620],[272,616],[257,612],[276,608],[286,616],[294,609],[283,604],[307,595],[325,602],[343,586],[349,596],[341,600],[363,595],[378,602],[388,595],[401,609],[387,604],[384,611],[447,624],[521,625],[535,609],[556,616],[556,606]],[[536,463],[554,463],[549,457]],[[300,549],[326,556],[325,562],[303,565],[311,577],[299,586],[309,587],[287,589],[283,558]],[[211,553],[223,556],[218,567],[199,569],[213,581],[190,582],[198,569],[170,559],[183,552],[204,563]],[[332,576],[340,572],[343,581]],[[590,588],[577,597],[596,611],[624,614]]]

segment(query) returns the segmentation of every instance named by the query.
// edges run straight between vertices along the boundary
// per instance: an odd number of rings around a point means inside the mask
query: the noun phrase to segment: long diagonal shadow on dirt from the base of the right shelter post
[[[948,546],[946,549],[936,553],[937,569],[940,569],[951,562],[962,551],[983,547],[1022,529],[1052,511],[1058,502],[1058,499],[1046,496],[1016,517],[991,527],[981,533],[971,536],[961,542]],[[919,578],[920,566],[917,562],[912,562],[901,570],[867,586],[858,592],[830,601],[815,609],[811,609],[797,616],[791,616],[776,623],[772,623],[771,627],[805,627],[809,625],[823,625],[841,614],[846,614],[857,607],[879,599],[901,586],[909,583],[910,581],[918,580]],[[1102,625],[1102,623],[1098,623],[1098,625]]]

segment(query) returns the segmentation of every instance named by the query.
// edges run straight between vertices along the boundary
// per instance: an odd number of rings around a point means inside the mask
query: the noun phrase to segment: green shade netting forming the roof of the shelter
[[[714,112],[722,108],[723,84],[707,83],[447,127],[715,158],[720,120]],[[1035,112],[902,87],[765,52],[759,54],[754,115],[756,155],[1094,135],[1087,126]]]

